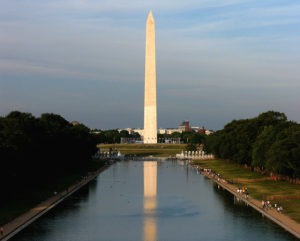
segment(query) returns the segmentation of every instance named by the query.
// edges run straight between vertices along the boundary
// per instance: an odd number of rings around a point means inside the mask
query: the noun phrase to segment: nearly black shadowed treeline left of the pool
[[[84,170],[97,151],[89,128],[72,125],[56,114],[13,111],[0,117],[2,193],[38,188]]]

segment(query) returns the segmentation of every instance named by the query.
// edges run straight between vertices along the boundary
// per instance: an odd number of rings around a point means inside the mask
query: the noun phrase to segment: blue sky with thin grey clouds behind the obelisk
[[[274,110],[300,122],[300,1],[0,0],[0,116],[143,128],[156,23],[159,128],[219,130]]]

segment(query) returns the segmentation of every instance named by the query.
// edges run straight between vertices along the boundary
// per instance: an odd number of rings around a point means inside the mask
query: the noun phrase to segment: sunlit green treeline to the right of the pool
[[[300,125],[284,113],[234,120],[206,138],[205,150],[275,177],[300,177]]]

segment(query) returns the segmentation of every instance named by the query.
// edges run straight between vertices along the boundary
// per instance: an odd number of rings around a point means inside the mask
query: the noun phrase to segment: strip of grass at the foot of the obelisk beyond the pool
[[[124,155],[170,157],[181,153],[184,144],[101,144],[100,150],[116,149]]]

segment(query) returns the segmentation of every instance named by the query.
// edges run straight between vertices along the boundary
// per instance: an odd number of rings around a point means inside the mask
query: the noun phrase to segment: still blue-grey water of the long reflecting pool
[[[297,240],[176,161],[118,162],[13,241]]]

